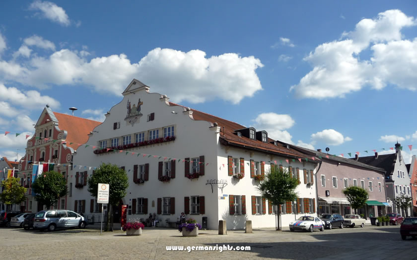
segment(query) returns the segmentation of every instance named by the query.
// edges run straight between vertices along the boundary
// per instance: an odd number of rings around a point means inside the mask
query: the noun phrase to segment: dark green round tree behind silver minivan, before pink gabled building
[[[36,194],[35,200],[48,209],[68,192],[67,181],[57,171],[43,172],[37,176],[32,183],[32,189]]]

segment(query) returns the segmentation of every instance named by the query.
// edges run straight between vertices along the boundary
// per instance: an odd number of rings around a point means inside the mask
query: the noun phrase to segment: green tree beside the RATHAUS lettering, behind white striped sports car
[[[299,184],[298,179],[292,178],[291,173],[278,167],[272,168],[265,174],[264,180],[262,180],[257,189],[262,194],[262,197],[266,198],[273,205],[278,206],[277,218],[278,228],[279,216],[281,214],[281,204],[285,204],[287,201],[295,201],[297,199],[297,193],[295,189]]]

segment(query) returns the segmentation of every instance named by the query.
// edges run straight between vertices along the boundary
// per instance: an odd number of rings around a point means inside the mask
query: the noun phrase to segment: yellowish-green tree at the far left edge
[[[0,200],[8,208],[13,204],[20,204],[26,200],[25,193],[27,189],[19,184],[18,178],[11,177],[3,180],[1,187],[4,187],[4,190],[0,193]]]

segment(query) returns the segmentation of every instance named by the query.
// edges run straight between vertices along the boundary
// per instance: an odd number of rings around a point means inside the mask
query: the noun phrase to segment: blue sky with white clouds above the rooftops
[[[133,78],[170,101],[345,154],[417,149],[415,1],[6,1],[0,156],[45,104],[103,120]],[[4,136],[4,131],[11,134]]]

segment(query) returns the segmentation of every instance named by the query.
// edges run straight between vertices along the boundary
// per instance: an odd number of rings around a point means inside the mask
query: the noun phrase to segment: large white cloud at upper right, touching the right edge
[[[416,45],[401,41],[401,30],[414,25],[415,19],[400,10],[387,10],[374,19],[362,19],[354,31],[343,33],[343,38],[348,39],[324,43],[310,52],[304,60],[312,64],[313,70],[291,86],[290,91],[300,98],[325,99],[343,98],[365,85],[381,89],[387,82],[416,90],[416,75],[412,73],[417,67]],[[370,44],[373,44],[371,59],[359,59],[359,54]]]

